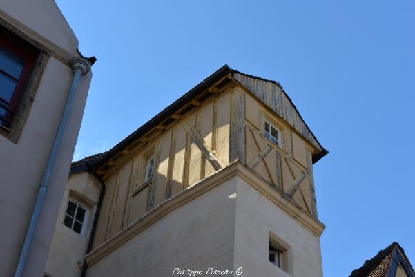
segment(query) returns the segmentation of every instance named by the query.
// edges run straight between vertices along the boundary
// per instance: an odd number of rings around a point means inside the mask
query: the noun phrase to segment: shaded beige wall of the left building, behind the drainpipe
[[[39,84],[28,120],[17,144],[0,136],[0,276],[11,276],[17,263],[28,220],[72,79],[72,70],[50,57]],[[39,218],[26,272],[41,274],[65,189],[66,178],[84,113],[91,75],[79,84],[73,110],[57,157],[50,187]],[[7,212],[6,212],[7,211]],[[36,269],[36,270],[35,270]],[[33,270],[33,271],[32,271]],[[26,275],[26,276],[37,276]]]

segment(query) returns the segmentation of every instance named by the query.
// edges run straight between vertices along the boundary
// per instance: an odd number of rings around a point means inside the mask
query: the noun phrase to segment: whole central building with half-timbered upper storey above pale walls
[[[45,271],[321,277],[313,164],[326,154],[280,84],[223,66],[73,164]]]

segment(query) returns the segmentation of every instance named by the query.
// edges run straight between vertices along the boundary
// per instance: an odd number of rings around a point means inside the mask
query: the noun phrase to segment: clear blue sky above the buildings
[[[98,59],[75,160],[229,64],[280,82],[330,151],[314,169],[325,276],[393,241],[415,263],[414,1],[57,3]]]

